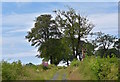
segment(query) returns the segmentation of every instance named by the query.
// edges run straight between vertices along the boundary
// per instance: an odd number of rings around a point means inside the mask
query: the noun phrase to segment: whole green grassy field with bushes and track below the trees
[[[117,80],[118,58],[87,56],[84,61],[73,60],[68,67],[22,65],[20,61],[2,61],[3,80]]]

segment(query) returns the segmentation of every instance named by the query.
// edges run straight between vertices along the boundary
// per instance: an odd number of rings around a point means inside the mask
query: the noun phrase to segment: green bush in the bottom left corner
[[[20,61],[7,63],[6,61],[2,62],[2,78],[3,80],[15,80],[17,77],[23,75],[23,68]]]

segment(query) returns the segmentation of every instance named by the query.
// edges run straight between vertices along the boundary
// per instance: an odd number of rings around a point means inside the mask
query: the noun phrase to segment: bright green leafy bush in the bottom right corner
[[[117,80],[118,79],[118,59],[113,58],[97,58],[91,64],[91,70],[100,80]]]

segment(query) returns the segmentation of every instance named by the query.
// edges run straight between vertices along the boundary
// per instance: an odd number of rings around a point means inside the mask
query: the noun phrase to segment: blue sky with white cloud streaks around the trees
[[[4,0],[3,0],[4,1]],[[95,25],[93,32],[102,31],[118,36],[118,2],[2,2],[2,59],[8,62],[21,60],[26,64],[40,64],[37,49],[25,39],[34,26],[37,16],[52,14],[55,9],[67,10],[70,6]]]

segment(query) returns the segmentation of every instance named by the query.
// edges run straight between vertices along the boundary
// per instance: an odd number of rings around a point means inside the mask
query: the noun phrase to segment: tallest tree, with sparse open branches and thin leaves
[[[62,36],[70,38],[73,56],[77,58],[80,54],[79,48],[82,47],[80,46],[81,39],[87,37],[94,25],[72,8],[69,8],[68,11],[58,10],[54,12],[56,13],[57,24],[63,32]]]

